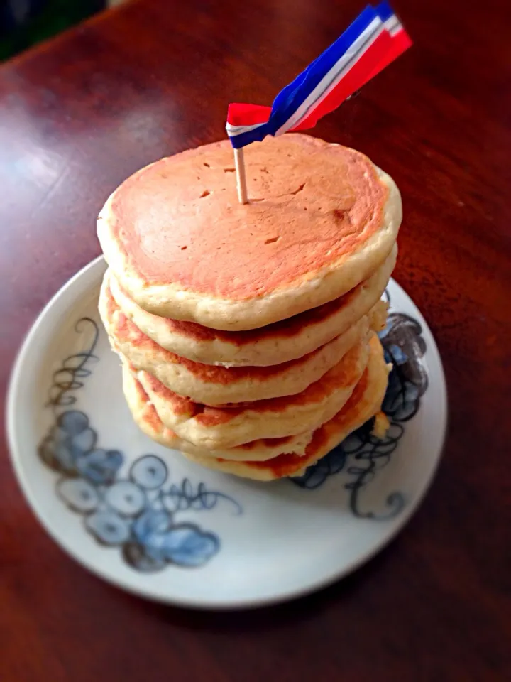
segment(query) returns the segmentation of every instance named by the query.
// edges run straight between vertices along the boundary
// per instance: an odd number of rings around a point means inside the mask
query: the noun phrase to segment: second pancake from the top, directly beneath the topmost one
[[[395,245],[370,278],[341,298],[262,329],[245,332],[223,332],[153,315],[137,305],[113,275],[107,277],[112,296],[124,315],[165,350],[203,364],[267,367],[316,350],[366,315],[385,290],[396,256]]]

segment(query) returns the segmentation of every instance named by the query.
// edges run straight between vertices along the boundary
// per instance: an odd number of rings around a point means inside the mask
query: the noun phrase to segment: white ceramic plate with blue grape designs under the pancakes
[[[439,353],[395,282],[383,343],[395,369],[383,441],[362,429],[300,480],[204,470],[149,440],[99,323],[102,258],[43,310],[13,372],[8,431],[23,492],[86,568],[190,607],[268,604],[317,590],[385,546],[422,499],[446,428]]]

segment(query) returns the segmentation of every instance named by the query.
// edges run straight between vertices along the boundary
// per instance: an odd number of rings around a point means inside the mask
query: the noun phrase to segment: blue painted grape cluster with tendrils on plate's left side
[[[202,482],[197,486],[187,478],[172,482],[167,465],[156,455],[143,455],[126,477],[121,475],[123,453],[98,447],[98,435],[87,414],[77,409],[62,411],[76,403],[74,391],[82,388],[92,371],[87,364],[97,361],[97,324],[82,318],[75,330],[92,330],[92,343],[89,350],[67,357],[54,372],[48,406],[55,423],[39,446],[41,460],[60,473],[57,495],[69,509],[82,514],[85,528],[98,543],[119,547],[136,570],[206,564],[219,552],[220,539],[196,524],[180,522],[180,512],[207,511],[224,503],[234,514],[241,514],[241,505]]]

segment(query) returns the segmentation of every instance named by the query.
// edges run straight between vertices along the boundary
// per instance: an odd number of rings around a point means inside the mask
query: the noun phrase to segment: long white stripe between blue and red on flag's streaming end
[[[331,91],[334,90],[334,87],[336,87],[339,81],[344,78],[344,75],[351,69],[353,63],[356,63],[356,61],[366,53],[383,31],[385,31],[385,28],[383,27],[381,19],[379,17],[374,18],[366,30],[351,43],[344,55],[342,55],[335,65],[331,67],[329,72],[324,75],[322,80],[314,90],[312,90],[311,94],[309,94],[309,97],[300,104],[300,107],[298,107],[295,113],[287,119],[285,124],[280,126],[275,133],[275,137],[282,135],[290,128],[297,126],[312,109],[321,104],[325,97],[328,97]]]

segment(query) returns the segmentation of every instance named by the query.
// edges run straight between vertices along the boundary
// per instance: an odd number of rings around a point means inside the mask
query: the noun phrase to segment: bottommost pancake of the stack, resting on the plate
[[[305,449],[305,455],[285,453],[266,461],[235,462],[223,458],[197,455],[186,452],[186,450],[182,450],[182,454],[192,462],[209,469],[260,481],[304,474],[307,467],[315,464],[336,445],[345,440],[350,433],[380,413],[387,390],[390,366],[385,364],[378,337],[373,337],[370,345],[371,354],[368,367],[361,380],[341,410],[314,431],[312,440]]]

